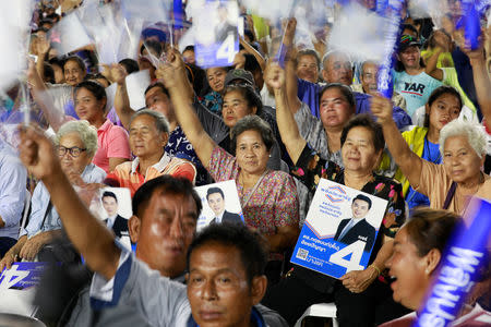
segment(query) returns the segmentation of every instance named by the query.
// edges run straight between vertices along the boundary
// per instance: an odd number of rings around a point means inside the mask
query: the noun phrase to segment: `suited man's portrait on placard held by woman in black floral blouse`
[[[371,207],[370,197],[358,194],[351,203],[352,217],[339,222],[334,241],[351,244],[360,240],[366,242],[364,251],[369,252],[375,241],[375,228],[366,219]]]

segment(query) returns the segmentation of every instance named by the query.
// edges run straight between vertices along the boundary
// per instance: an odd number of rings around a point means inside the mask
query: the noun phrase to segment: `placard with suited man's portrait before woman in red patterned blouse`
[[[225,181],[194,187],[200,195],[203,210],[197,218],[196,230],[209,223],[243,223],[242,208],[236,181]]]

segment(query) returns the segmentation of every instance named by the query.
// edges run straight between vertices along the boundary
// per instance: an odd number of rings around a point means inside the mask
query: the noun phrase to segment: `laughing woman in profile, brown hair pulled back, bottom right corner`
[[[395,279],[392,283],[394,299],[414,312],[383,324],[383,327],[412,325],[417,317],[416,311],[424,303],[434,275],[441,267],[446,242],[459,220],[459,216],[448,210],[421,208],[415,210],[411,219],[397,232],[394,254],[387,262],[387,268]],[[483,313],[479,305],[474,308],[466,305],[456,318],[456,326],[472,326],[470,320]]]

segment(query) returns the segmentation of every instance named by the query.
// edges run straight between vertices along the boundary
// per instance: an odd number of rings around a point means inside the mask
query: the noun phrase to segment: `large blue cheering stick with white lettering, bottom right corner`
[[[491,203],[472,198],[465,216],[469,227],[454,231],[444,252],[441,268],[414,326],[444,327],[457,318],[467,294],[487,259],[491,231]]]

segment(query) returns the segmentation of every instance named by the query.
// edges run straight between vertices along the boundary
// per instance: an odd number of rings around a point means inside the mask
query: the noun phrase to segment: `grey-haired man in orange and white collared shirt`
[[[168,140],[169,124],[160,112],[145,109],[133,114],[130,121],[130,148],[136,158],[118,165],[107,175],[106,183],[130,189],[131,196],[145,181],[163,174],[183,177],[194,183],[194,166],[165,153]]]

